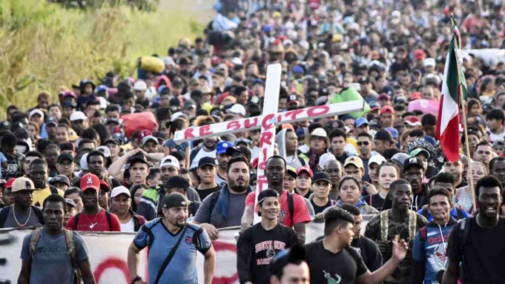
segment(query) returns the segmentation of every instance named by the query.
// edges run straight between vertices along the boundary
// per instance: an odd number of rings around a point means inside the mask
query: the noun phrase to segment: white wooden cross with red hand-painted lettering
[[[274,153],[275,129],[277,125],[363,111],[365,101],[357,100],[278,113],[281,71],[279,63],[268,66],[265,101],[263,102],[263,114],[261,116],[189,127],[176,131],[174,140],[176,142],[184,142],[261,128],[260,156],[257,171],[258,182],[256,185],[256,191],[259,193],[268,184],[265,177],[265,166],[267,159],[273,156]],[[256,198],[258,198],[258,194]]]

